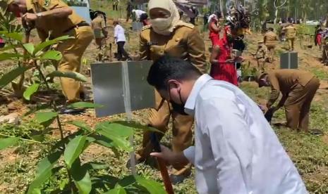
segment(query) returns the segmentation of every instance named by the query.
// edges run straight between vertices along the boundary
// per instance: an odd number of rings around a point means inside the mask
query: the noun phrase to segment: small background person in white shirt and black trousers
[[[126,44],[126,34],[124,28],[119,25],[119,20],[114,20],[113,22],[114,27],[114,40],[117,44],[117,59],[123,60],[123,57],[126,60],[131,60],[130,56],[124,49],[124,44]]]

